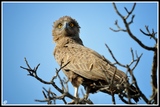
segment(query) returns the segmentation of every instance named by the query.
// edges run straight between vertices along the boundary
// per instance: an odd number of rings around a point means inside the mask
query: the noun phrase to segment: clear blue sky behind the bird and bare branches
[[[146,51],[133,41],[127,33],[113,32],[116,29],[115,20],[124,28],[124,24],[116,14],[111,2],[3,2],[2,7],[2,100],[7,104],[46,104],[35,102],[43,100],[42,87],[51,88],[60,95],[52,86],[40,83],[33,77],[27,76],[28,72],[21,69],[26,67],[24,57],[31,67],[40,63],[38,75],[50,81],[55,75],[55,68],[59,68],[53,57],[55,44],[52,38],[53,22],[62,16],[68,15],[76,19],[81,26],[80,37],[86,47],[89,47],[108,60],[114,62],[105,43],[110,47],[118,61],[123,64],[131,62],[130,48],[143,56],[134,70],[138,85],[147,98],[151,95],[151,66],[153,52]],[[124,7],[131,9],[132,2],[117,3],[118,10],[126,15]],[[137,3],[133,14],[134,23],[130,28],[137,38],[147,46],[154,46],[154,40],[144,36],[139,29],[145,30],[145,25],[157,31],[158,4],[156,2]],[[129,18],[130,19],[130,18]],[[117,66],[124,72],[126,69]],[[61,77],[64,74],[60,72]],[[55,81],[58,86],[60,82]],[[80,87],[80,90],[83,87]],[[69,91],[73,87],[69,83]],[[79,91],[81,95],[81,91]],[[111,96],[103,93],[90,94],[89,98],[95,104],[112,104]],[[71,101],[71,99],[67,99]],[[62,101],[57,100],[57,104]],[[116,97],[117,104],[123,104]],[[140,100],[139,104],[144,104]]]

